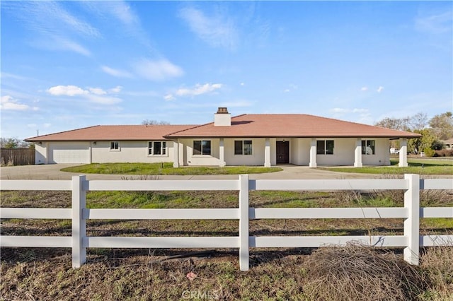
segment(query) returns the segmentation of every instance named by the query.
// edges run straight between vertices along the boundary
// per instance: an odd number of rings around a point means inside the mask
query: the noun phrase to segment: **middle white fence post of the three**
[[[239,175],[239,268],[248,271],[248,175]]]

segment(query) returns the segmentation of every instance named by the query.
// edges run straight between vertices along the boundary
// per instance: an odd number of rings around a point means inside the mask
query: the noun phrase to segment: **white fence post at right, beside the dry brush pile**
[[[404,248],[404,260],[418,266],[420,251],[420,176],[404,175],[409,182],[404,192],[404,207],[408,210],[408,218],[404,220],[404,236],[407,247]]]

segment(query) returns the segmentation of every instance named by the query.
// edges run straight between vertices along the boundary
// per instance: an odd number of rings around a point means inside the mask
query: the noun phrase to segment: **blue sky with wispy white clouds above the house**
[[[451,1],[1,1],[1,136],[453,110]]]

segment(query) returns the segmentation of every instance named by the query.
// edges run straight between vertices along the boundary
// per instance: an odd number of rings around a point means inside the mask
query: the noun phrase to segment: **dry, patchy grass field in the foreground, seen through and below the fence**
[[[88,194],[93,208],[237,208],[236,191],[142,191]],[[402,206],[401,191],[253,191],[256,207]],[[451,191],[427,191],[425,206],[453,206]],[[62,191],[1,191],[1,205],[67,208]],[[423,231],[451,234],[435,220]],[[402,235],[402,219],[251,220],[251,235]],[[70,235],[69,220],[1,220],[2,235]],[[88,220],[88,235],[237,235],[237,220]],[[205,256],[167,256],[196,249],[88,249],[71,268],[70,249],[2,248],[0,300],[452,300],[453,247],[426,248],[420,268],[401,249],[360,246],[251,249],[239,271],[237,249]],[[204,250],[202,250],[204,251]],[[193,281],[188,273],[197,276]],[[188,292],[188,293],[185,293]],[[184,295],[183,295],[184,294]]]

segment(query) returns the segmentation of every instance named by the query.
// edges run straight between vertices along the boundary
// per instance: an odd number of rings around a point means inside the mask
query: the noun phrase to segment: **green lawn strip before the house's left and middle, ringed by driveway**
[[[246,175],[280,172],[279,167],[227,166],[227,167],[179,167],[173,163],[93,163],[63,168],[63,172],[110,175]]]

